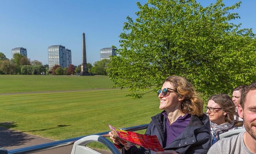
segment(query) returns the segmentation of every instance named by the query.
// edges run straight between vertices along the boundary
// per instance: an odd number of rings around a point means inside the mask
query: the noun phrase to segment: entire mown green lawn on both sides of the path
[[[156,93],[134,100],[112,85],[108,76],[0,75],[0,126],[63,140],[147,124],[161,112]]]

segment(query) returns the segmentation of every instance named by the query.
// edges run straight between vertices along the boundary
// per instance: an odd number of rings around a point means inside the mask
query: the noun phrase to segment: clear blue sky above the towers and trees
[[[119,48],[119,34],[127,16],[136,18],[136,2],[146,0],[0,0],[0,52],[11,59],[11,49],[24,47],[28,58],[48,64],[48,46],[72,51],[72,64],[82,63],[85,33],[87,63],[99,61],[101,48]],[[238,0],[224,0],[226,6]],[[202,6],[215,0],[198,0]],[[256,33],[256,0],[242,0],[237,12],[241,28]]]

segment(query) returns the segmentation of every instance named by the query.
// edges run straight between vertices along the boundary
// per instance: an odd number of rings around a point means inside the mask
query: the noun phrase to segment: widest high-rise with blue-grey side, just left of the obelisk
[[[62,45],[48,47],[49,68],[52,68],[54,65],[59,65],[61,68],[65,68],[71,63],[71,50],[66,49],[65,46]]]

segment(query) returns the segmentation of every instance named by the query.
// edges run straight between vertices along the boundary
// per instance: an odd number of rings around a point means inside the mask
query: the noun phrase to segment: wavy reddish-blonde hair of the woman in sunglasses
[[[183,113],[201,116],[203,114],[203,101],[197,95],[195,88],[185,78],[181,76],[169,76],[164,82],[170,82],[178,96],[183,96],[184,100],[181,103]]]

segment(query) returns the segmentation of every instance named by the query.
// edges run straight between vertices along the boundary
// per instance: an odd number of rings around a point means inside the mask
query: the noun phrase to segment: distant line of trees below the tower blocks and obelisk
[[[88,72],[95,75],[108,75],[107,64],[109,60],[103,59],[102,61],[94,62],[94,66],[91,63],[87,63]],[[14,54],[14,57],[10,60],[6,58],[4,53],[0,52],[0,74],[21,74],[21,75],[74,75],[81,72],[81,66],[75,67],[70,64],[68,67],[61,68],[59,65],[55,65],[49,69],[42,65],[42,62],[38,60],[31,61],[26,56],[22,56],[19,53]]]

